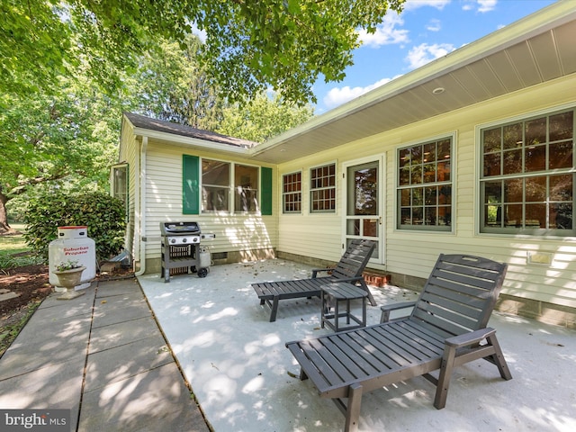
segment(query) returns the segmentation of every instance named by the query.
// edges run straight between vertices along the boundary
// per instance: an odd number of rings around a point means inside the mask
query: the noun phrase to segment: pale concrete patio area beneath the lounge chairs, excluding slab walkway
[[[139,277],[142,290],[185,379],[215,431],[335,431],[344,416],[320,399],[284,343],[327,333],[320,301],[281,302],[275,322],[250,284],[308,277],[311,267],[284,260],[213,266],[205,278]],[[393,282],[393,281],[392,281]],[[415,299],[389,286],[372,288],[379,305]],[[380,318],[368,306],[368,324]],[[491,327],[513,380],[484,361],[458,368],[446,409],[433,406],[436,388],[423,378],[364,396],[361,431],[576,430],[576,333],[494,313]]]

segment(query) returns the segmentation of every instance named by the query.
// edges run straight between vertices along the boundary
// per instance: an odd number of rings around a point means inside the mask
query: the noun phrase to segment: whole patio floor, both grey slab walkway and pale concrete
[[[0,410],[67,409],[75,432],[342,430],[344,416],[298,379],[284,347],[329,331],[320,329],[320,301],[281,303],[269,322],[250,286],[310,274],[269,260],[169,284],[159,275],[100,281],[68,302],[52,294],[0,358]],[[416,297],[394,286],[372,293],[379,304]],[[369,324],[379,316],[368,306]],[[490,325],[511,381],[484,361],[458,368],[444,410],[423,378],[370,392],[360,430],[576,430],[576,333],[500,313]]]

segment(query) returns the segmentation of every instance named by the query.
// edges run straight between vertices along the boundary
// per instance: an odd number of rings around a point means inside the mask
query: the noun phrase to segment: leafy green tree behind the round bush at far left
[[[58,94],[4,94],[0,113],[0,231],[5,204],[39,184],[76,190],[107,184],[115,160],[121,109],[79,76],[60,78]]]

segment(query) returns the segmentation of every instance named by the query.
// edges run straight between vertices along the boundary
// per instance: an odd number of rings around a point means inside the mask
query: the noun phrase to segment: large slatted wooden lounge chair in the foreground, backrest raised
[[[455,366],[483,358],[512,378],[496,330],[486,328],[506,269],[481,257],[441,255],[419,300],[383,306],[380,324],[286,347],[301,365],[300,378],[310,378],[344,413],[345,431],[358,428],[363,393],[419,375],[437,385],[440,410]],[[391,311],[408,307],[409,317],[389,320]],[[429,374],[437,370],[438,378]]]

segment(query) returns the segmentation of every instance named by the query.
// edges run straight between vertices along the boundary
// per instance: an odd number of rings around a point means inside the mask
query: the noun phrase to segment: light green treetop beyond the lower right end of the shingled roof
[[[310,120],[313,114],[311,106],[300,107],[283,102],[279,94],[271,99],[262,93],[243,106],[237,103],[224,108],[222,120],[215,131],[232,137],[264,142]]]

